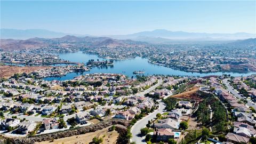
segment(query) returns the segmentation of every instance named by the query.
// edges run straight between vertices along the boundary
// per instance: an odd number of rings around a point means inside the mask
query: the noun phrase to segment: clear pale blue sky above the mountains
[[[256,1],[1,1],[1,28],[117,35],[256,33]]]

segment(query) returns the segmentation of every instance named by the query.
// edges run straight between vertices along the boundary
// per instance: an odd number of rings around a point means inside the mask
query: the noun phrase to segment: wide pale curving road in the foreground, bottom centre
[[[131,141],[135,141],[136,143],[146,143],[144,140],[145,137],[139,136],[140,129],[142,129],[143,127],[146,127],[146,124],[148,123],[148,121],[150,121],[151,119],[154,119],[156,117],[157,113],[163,114],[164,108],[165,108],[164,103],[159,102],[159,108],[157,110],[155,110],[153,113],[147,115],[146,117],[143,117],[137,123],[135,123],[131,129],[131,133],[132,133]]]

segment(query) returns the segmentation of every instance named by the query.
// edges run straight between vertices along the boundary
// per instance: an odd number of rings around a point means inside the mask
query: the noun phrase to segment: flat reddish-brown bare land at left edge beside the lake
[[[35,67],[18,67],[18,66],[0,66],[0,77],[11,77],[16,73],[31,73],[39,69],[51,68],[50,66],[35,66]]]

